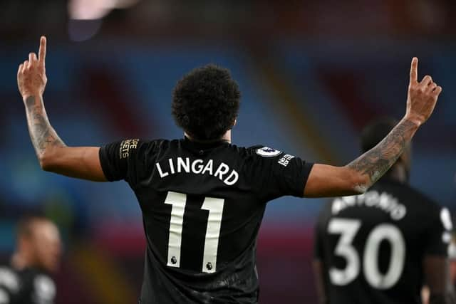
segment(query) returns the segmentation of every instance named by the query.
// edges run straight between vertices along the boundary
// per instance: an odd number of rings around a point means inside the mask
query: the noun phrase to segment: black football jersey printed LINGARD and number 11
[[[257,303],[266,202],[303,196],[312,165],[226,141],[124,140],[100,149],[109,181],[135,192],[147,239],[140,303]]]

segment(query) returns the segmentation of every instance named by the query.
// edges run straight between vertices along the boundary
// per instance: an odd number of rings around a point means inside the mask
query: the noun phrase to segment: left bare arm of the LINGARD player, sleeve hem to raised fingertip
[[[17,83],[26,108],[28,132],[41,168],[68,177],[104,182],[98,157],[99,147],[67,147],[46,115],[43,103],[46,88],[46,38],[41,37],[38,58],[28,55],[19,65]]]

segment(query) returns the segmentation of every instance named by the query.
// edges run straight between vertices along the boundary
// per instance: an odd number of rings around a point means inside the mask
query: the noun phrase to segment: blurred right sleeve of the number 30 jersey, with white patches
[[[450,245],[452,221],[450,211],[440,209],[432,216],[425,230],[425,254],[430,256],[447,256]]]

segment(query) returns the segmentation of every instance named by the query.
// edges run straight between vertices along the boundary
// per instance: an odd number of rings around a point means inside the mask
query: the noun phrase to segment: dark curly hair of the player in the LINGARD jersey
[[[190,71],[172,93],[172,116],[195,140],[218,140],[231,129],[241,93],[226,68],[209,64]]]

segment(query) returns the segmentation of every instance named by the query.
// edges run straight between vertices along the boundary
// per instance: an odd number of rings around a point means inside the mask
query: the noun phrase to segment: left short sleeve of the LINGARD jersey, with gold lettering
[[[155,142],[142,140],[123,140],[100,148],[100,164],[106,179],[110,182],[125,179],[136,184],[138,177],[147,167],[147,156]]]

